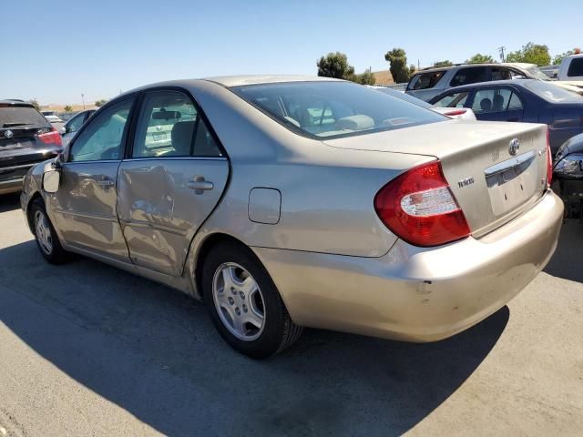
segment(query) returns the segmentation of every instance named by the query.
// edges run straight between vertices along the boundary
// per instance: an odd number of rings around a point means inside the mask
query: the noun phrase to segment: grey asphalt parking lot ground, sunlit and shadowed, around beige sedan
[[[306,330],[269,361],[199,302],[90,259],[50,266],[0,198],[0,437],[583,435],[583,224],[490,318],[431,344]]]

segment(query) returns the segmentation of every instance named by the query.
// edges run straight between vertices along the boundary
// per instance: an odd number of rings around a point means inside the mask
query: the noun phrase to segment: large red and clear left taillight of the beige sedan
[[[415,246],[439,246],[470,234],[439,161],[394,178],[376,193],[374,209],[388,229]]]

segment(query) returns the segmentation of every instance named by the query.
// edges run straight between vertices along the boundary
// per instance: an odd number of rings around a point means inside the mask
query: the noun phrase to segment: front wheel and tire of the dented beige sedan
[[[55,228],[46,214],[45,202],[36,198],[30,206],[30,222],[35,234],[36,246],[41,255],[51,264],[66,261],[66,251],[56,235]]]

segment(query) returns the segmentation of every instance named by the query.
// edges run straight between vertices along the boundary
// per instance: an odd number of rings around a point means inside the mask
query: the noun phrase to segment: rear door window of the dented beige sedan
[[[189,97],[178,91],[144,97],[132,158],[219,156],[220,148]]]

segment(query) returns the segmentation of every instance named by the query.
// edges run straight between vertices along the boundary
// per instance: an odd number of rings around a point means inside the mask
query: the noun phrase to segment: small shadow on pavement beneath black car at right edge
[[[558,278],[583,282],[583,223],[569,219],[563,224],[557,250],[547,264],[545,272]]]

